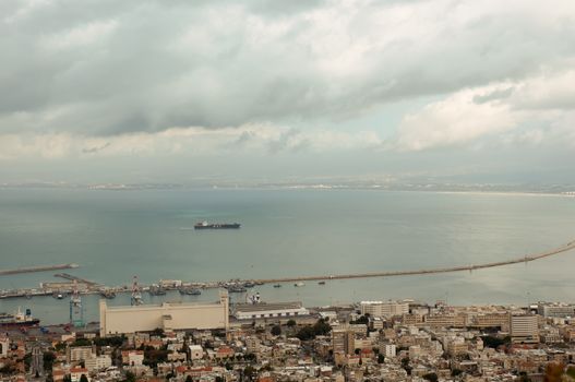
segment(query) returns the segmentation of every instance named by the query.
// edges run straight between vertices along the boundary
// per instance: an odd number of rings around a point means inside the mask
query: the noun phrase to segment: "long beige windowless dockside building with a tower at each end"
[[[108,307],[99,303],[100,336],[155,329],[177,331],[188,329],[229,329],[229,300],[227,291],[213,303],[164,302],[128,307]]]

